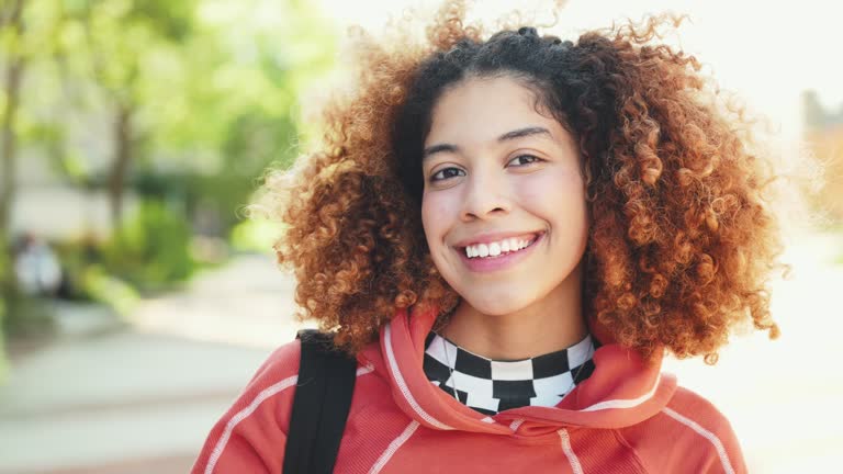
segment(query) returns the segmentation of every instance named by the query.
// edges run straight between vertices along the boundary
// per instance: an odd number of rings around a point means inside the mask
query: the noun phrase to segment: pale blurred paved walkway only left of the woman
[[[291,340],[289,280],[247,256],[121,323],[63,304],[63,337],[0,387],[0,473],[183,473],[273,347]]]

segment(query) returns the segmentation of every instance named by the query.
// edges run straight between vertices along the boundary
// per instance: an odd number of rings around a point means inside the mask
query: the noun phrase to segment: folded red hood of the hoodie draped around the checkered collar
[[[555,407],[528,406],[485,416],[431,384],[423,360],[435,309],[400,309],[381,330],[380,347],[362,358],[389,382],[401,409],[419,424],[440,430],[541,436],[564,427],[622,428],[641,422],[667,405],[676,379],[661,373],[661,360],[645,363],[616,343],[594,353],[594,372]]]

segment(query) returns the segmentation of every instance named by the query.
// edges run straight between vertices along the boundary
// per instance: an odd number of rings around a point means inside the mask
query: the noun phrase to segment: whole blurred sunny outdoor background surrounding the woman
[[[508,11],[476,3],[484,21]],[[407,7],[435,5],[0,0],[0,473],[189,470],[299,327],[294,282],[271,255],[278,227],[245,206],[313,135],[305,112],[342,81],[346,30],[378,34]],[[833,9],[572,0],[554,27],[575,38],[645,13],[689,14],[665,41],[765,117],[764,145],[796,177],[799,204],[783,213],[793,270],[773,294],[782,338],[735,337],[715,368],[667,361],[731,420],[752,472],[843,461]]]

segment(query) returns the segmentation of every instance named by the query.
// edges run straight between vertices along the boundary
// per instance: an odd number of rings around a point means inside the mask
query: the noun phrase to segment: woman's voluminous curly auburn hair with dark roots
[[[446,317],[456,307],[422,228],[423,144],[448,87],[509,75],[578,139],[593,325],[647,359],[668,350],[709,363],[743,323],[777,337],[768,160],[751,151],[743,111],[728,106],[699,63],[657,44],[660,29],[678,20],[570,42],[532,27],[484,38],[464,13],[463,2],[447,2],[427,42],[361,35],[353,92],[325,106],[319,150],[268,179],[286,224],[274,248],[297,279],[299,316],[336,330],[355,352],[396,308],[424,305]]]

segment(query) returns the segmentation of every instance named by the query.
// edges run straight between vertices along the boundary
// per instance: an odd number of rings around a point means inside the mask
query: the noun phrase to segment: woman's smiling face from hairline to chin
[[[577,146],[536,104],[513,78],[469,79],[441,95],[425,140],[422,218],[432,260],[487,315],[561,289],[586,246]]]

